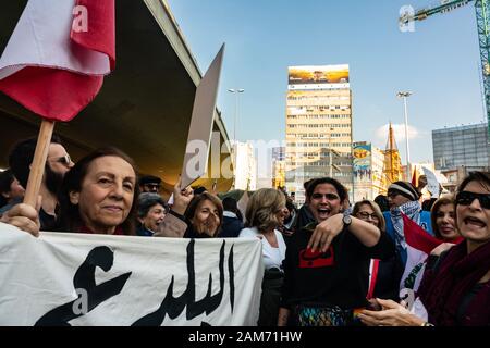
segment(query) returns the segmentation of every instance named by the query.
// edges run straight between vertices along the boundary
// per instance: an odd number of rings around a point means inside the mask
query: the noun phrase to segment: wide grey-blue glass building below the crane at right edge
[[[487,124],[432,130],[433,162],[437,170],[489,165]]]

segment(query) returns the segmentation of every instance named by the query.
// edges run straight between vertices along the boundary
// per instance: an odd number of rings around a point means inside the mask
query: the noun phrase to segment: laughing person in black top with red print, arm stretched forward
[[[376,226],[342,213],[347,191],[338,181],[315,179],[306,194],[316,223],[287,245],[278,324],[352,325],[354,310],[368,306],[366,264],[393,254],[393,243]]]

